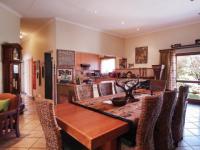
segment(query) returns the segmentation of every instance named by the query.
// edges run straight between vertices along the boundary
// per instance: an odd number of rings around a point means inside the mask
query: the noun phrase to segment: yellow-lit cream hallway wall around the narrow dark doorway
[[[33,61],[40,60],[40,63],[44,65],[44,53],[55,50],[55,37],[55,20],[50,20],[27,39],[23,40],[24,59],[28,57],[32,58]],[[33,96],[44,97],[44,79],[42,78],[41,86],[39,86],[38,82],[37,79],[36,90],[33,90]],[[30,85],[32,86],[32,84]]]

